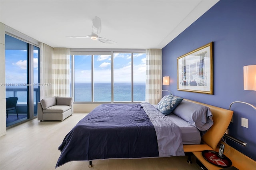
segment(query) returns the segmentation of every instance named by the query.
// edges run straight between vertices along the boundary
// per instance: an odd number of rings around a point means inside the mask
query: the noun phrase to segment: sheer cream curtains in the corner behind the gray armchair
[[[70,54],[67,48],[40,45],[40,99],[70,96]]]

